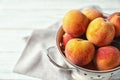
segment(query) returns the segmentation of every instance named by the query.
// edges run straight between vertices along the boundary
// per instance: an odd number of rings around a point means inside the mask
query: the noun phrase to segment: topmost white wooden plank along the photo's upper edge
[[[118,8],[119,0],[1,0],[2,8],[7,9],[68,9],[86,5],[100,5],[103,8]],[[107,6],[106,6],[107,5]]]

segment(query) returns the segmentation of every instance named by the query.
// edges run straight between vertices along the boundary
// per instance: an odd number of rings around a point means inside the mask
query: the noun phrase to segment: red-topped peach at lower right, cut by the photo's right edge
[[[96,64],[99,70],[110,70],[120,65],[120,52],[113,46],[98,49]]]

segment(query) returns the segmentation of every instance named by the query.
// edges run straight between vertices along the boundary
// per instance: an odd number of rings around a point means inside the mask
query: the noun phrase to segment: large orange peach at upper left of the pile
[[[81,36],[87,29],[89,19],[79,10],[67,12],[62,20],[63,30],[73,37]]]

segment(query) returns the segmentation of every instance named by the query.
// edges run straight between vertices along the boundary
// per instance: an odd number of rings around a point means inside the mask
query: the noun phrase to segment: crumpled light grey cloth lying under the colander
[[[59,27],[60,21],[47,29],[35,30],[16,64],[14,72],[42,80],[73,80],[69,71],[54,67],[46,55],[46,49],[55,46],[55,36],[58,30],[56,28]]]

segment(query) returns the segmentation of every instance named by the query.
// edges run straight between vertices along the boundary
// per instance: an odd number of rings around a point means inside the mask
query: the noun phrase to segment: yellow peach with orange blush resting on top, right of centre
[[[114,36],[115,29],[113,24],[104,18],[96,18],[91,21],[86,32],[88,41],[94,43],[96,46],[110,44]]]

